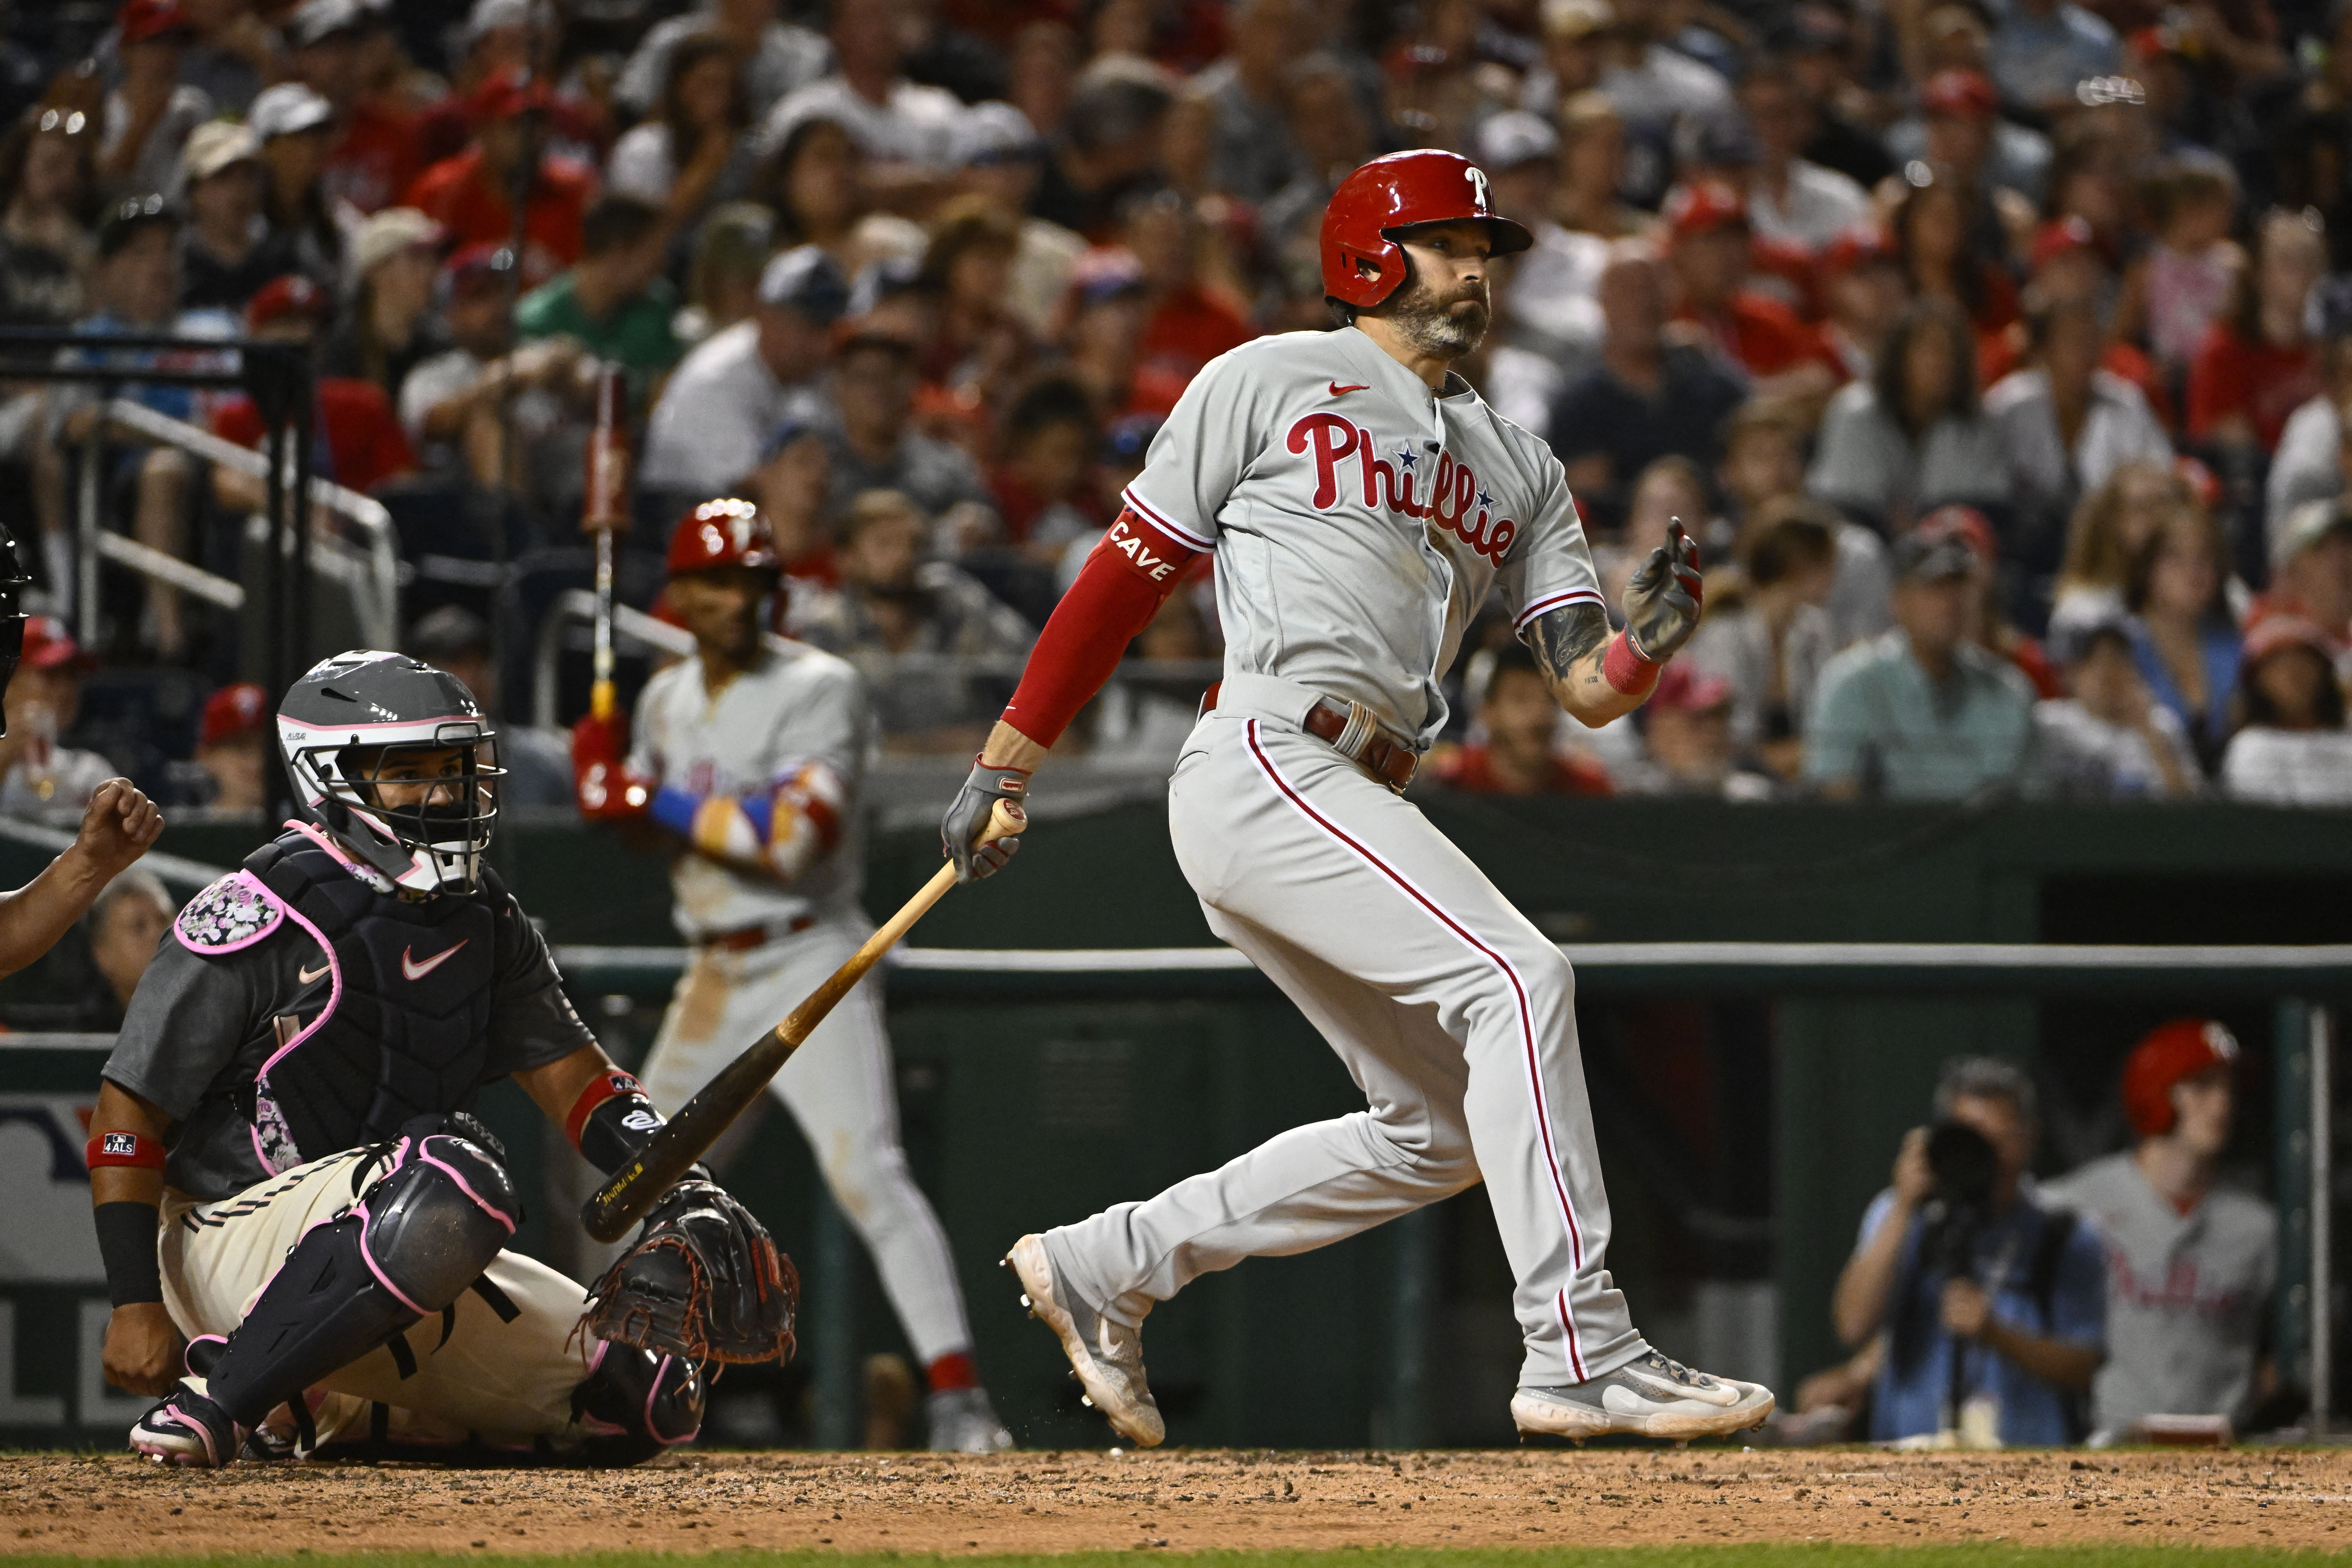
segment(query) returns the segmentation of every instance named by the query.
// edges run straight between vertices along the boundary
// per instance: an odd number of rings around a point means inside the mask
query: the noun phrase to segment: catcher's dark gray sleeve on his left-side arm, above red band
[[[254,947],[198,957],[174,936],[132,992],[103,1077],[186,1121],[205,1088],[261,1030],[266,954],[282,940],[270,933]]]

